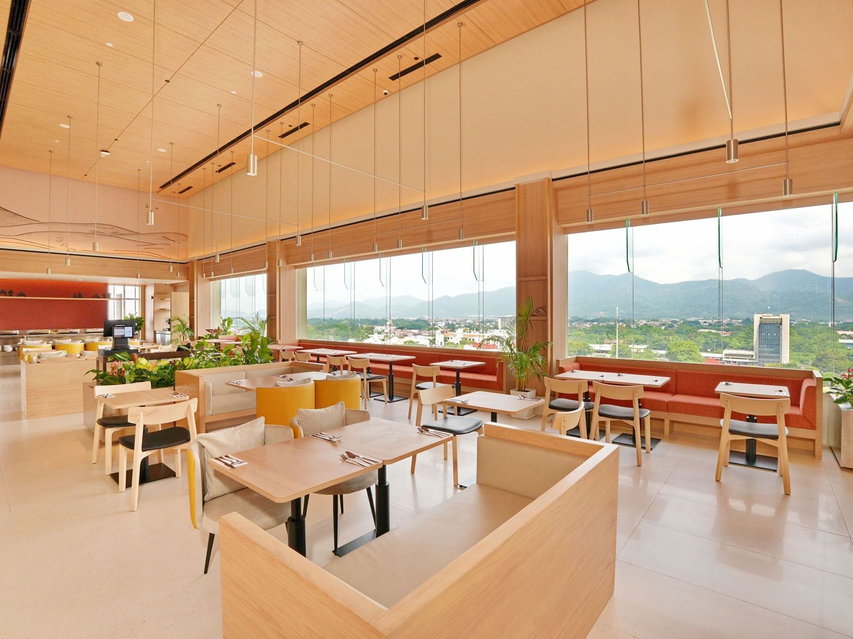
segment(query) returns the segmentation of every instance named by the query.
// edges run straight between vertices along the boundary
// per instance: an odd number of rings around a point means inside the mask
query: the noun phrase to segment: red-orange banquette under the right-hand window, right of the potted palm
[[[786,426],[791,436],[810,440],[815,458],[821,457],[823,431],[823,378],[818,371],[759,366],[725,366],[721,364],[688,364],[649,360],[615,360],[604,357],[574,356],[560,358],[557,372],[571,370],[601,372],[633,372],[637,375],[670,377],[659,389],[646,389],[642,406],[652,417],[664,420],[664,435],[671,424],[699,424],[719,428],[722,406],[714,392],[720,382],[767,384],[786,387],[791,395],[791,410],[786,413]],[[616,402],[619,403],[619,402]],[[759,417],[771,422],[772,417]]]

